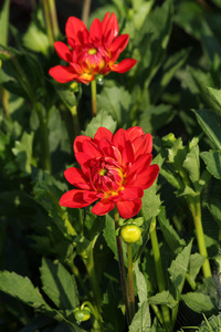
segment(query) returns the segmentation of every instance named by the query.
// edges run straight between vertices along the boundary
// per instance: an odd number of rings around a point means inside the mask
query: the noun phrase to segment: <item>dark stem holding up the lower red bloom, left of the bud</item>
[[[118,225],[118,222],[119,222],[119,212],[118,212],[116,206],[114,208],[114,220],[115,220],[115,230],[117,230],[118,227],[119,227],[119,225]],[[127,319],[127,324],[129,326],[129,324],[131,322],[131,317],[130,317],[130,310],[129,310],[129,297],[128,297],[128,289],[127,289],[127,278],[126,278],[125,266],[124,266],[124,257],[123,257],[123,247],[122,247],[120,236],[116,236],[116,242],[117,242],[119,277],[120,277],[120,282],[122,282],[124,303],[125,303],[125,308],[126,308],[126,319]]]

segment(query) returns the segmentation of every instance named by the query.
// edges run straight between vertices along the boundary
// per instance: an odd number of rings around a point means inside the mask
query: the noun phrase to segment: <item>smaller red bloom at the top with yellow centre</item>
[[[80,19],[71,17],[66,22],[65,32],[72,50],[61,41],[55,42],[54,48],[59,56],[69,62],[69,66],[55,65],[49,71],[60,83],[77,81],[88,84],[95,75],[106,75],[110,71],[125,73],[137,62],[126,59],[116,64],[129,41],[129,35],[118,37],[119,28],[115,13],[109,17],[107,12],[102,22],[95,19],[90,31]]]

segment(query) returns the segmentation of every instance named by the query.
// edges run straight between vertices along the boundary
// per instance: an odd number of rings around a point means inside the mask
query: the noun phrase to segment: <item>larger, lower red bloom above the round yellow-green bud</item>
[[[60,205],[83,208],[101,199],[93,214],[106,215],[116,204],[123,218],[131,218],[141,208],[144,189],[159,173],[158,165],[150,165],[151,151],[151,135],[138,126],[119,129],[115,135],[101,127],[94,138],[77,136],[74,152],[82,169],[67,168],[64,176],[78,189],[65,193]]]

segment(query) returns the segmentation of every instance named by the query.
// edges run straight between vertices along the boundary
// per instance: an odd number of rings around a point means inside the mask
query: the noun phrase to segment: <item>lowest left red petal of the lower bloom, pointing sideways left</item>
[[[91,195],[91,196],[90,196]],[[61,199],[60,205],[71,208],[82,208],[88,206],[93,201],[97,200],[95,191],[85,191],[73,189],[65,193]]]

